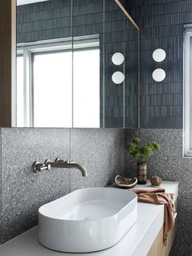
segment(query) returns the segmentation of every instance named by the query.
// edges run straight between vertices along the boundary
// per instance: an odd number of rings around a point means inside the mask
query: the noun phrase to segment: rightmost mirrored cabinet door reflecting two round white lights
[[[138,30],[117,2],[105,2],[103,123],[132,128],[137,127]]]

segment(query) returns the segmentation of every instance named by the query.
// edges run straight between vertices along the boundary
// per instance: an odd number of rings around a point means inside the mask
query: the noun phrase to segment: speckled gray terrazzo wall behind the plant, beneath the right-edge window
[[[124,130],[124,145],[134,136],[137,130]],[[192,159],[182,157],[181,129],[142,129],[141,138],[144,142],[157,141],[161,150],[147,163],[148,178],[152,174],[159,175],[164,180],[179,182],[178,226],[177,236],[172,247],[171,256],[192,255]],[[136,163],[124,152],[124,174],[135,176]]]

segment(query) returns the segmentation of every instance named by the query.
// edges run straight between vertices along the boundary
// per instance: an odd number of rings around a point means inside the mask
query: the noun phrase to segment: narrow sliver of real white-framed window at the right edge
[[[192,157],[192,28],[184,31],[184,157]]]

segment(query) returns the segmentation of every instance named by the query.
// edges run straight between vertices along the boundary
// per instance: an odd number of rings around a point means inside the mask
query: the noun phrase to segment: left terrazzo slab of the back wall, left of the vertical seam
[[[37,209],[70,192],[68,170],[33,173],[33,161],[69,157],[68,129],[2,129],[2,242],[37,224]]]

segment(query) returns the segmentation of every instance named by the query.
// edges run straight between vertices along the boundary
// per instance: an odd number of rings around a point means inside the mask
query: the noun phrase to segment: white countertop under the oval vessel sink
[[[136,188],[152,188],[147,185],[137,185]],[[178,195],[178,183],[164,182],[165,192]],[[155,241],[164,223],[164,205],[138,203],[137,223],[125,234],[122,240],[111,247],[96,253],[67,254],[46,249],[37,241],[37,227],[33,227],[22,235],[0,246],[1,256],[145,256]]]

